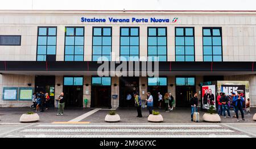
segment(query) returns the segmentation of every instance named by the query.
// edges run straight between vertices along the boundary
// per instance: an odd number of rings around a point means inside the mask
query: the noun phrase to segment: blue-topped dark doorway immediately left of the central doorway
[[[91,107],[111,108],[111,77],[92,77]]]

